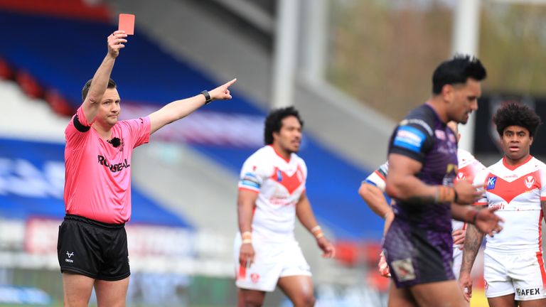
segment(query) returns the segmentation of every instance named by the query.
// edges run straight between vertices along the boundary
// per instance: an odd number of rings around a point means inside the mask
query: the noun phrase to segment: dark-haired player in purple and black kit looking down
[[[464,306],[451,269],[451,215],[490,235],[501,231],[493,210],[463,206],[481,193],[466,181],[453,184],[457,140],[446,126],[465,124],[478,109],[485,77],[481,62],[470,56],[441,63],[432,77],[432,96],[391,136],[386,191],[395,198],[395,220],[383,244],[392,274],[389,306]],[[451,209],[451,203],[459,205]]]

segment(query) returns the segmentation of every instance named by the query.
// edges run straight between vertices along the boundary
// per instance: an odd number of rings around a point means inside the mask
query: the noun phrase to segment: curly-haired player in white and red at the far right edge
[[[486,237],[483,276],[489,306],[546,306],[546,271],[542,259],[541,222],[546,201],[546,165],[530,155],[540,117],[517,102],[503,105],[493,117],[501,136],[501,161],[478,173],[483,186],[476,205],[497,208],[503,232]],[[467,230],[459,282],[472,293],[469,276],[483,235]]]

